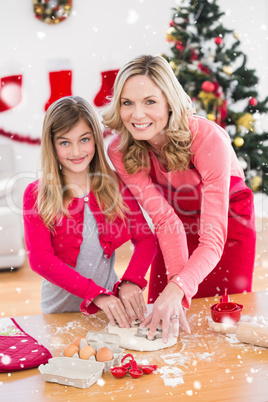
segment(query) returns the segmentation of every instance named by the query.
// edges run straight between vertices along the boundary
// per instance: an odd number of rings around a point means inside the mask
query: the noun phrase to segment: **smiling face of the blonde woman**
[[[148,141],[154,148],[166,139],[169,106],[160,88],[146,75],[129,78],[121,94],[121,119],[136,140]]]

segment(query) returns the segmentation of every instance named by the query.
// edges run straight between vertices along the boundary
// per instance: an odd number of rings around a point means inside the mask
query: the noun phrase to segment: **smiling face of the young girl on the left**
[[[84,120],[80,120],[67,133],[55,134],[54,146],[63,175],[89,172],[95,154],[95,140],[91,128]]]

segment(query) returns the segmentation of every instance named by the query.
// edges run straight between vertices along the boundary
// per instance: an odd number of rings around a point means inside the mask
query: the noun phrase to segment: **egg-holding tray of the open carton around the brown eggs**
[[[104,372],[110,371],[111,367],[119,366],[122,360],[124,349],[119,347],[120,336],[117,334],[110,334],[100,331],[88,331],[86,334],[87,343],[92,346],[96,351],[100,348],[106,347],[113,353],[114,358],[104,362]],[[80,347],[84,346],[84,339],[81,339]]]

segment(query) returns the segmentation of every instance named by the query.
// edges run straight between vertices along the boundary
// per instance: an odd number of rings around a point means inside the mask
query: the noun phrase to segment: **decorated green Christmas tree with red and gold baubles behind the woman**
[[[268,193],[268,133],[257,124],[268,111],[258,77],[239,50],[239,34],[226,29],[216,0],[181,0],[166,32],[171,56],[163,55],[193,100],[196,113],[229,133],[253,191]]]

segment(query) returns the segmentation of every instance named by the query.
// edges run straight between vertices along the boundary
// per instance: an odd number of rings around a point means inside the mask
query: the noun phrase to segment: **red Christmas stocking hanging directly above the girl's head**
[[[45,111],[47,111],[49,106],[56,100],[63,98],[64,96],[72,95],[72,71],[51,71],[49,73],[49,82],[51,95],[45,104]]]

